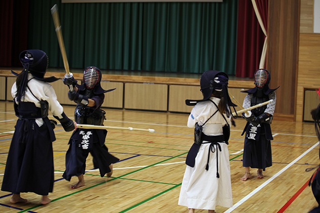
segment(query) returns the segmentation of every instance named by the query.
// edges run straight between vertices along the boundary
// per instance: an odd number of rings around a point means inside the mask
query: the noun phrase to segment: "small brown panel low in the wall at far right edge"
[[[303,121],[313,121],[310,112],[320,103],[318,93],[315,90],[306,90],[304,97]]]

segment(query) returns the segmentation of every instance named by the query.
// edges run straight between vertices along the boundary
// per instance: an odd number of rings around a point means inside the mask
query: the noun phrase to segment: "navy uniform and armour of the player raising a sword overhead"
[[[94,68],[97,69],[97,67]],[[101,75],[100,70],[99,74]],[[102,89],[100,80],[90,89],[85,84],[77,85],[77,87],[79,94],[75,100],[78,103],[75,110],[75,122],[77,124],[103,125],[105,112],[100,108],[105,98],[104,93],[113,89],[107,91]],[[79,101],[77,101],[78,99]],[[95,101],[94,107],[87,106],[85,100],[88,99]],[[70,146],[66,154],[66,170],[62,175],[63,178],[70,181],[73,175],[84,174],[85,162],[89,153],[93,157],[93,166],[99,168],[101,177],[111,172],[109,165],[116,163],[119,159],[108,152],[108,148],[104,144],[106,135],[107,130],[105,129],[77,128],[69,140]]]

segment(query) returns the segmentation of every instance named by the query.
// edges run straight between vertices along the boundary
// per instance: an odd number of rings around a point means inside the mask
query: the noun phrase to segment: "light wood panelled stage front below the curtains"
[[[63,73],[49,72],[47,77],[56,76],[63,78],[64,74],[62,74]],[[0,75],[3,77],[12,76],[10,70],[0,70]],[[75,73],[74,77],[78,80],[79,84],[81,84],[82,74]],[[10,78],[12,82],[9,84],[12,85],[16,78]],[[109,82],[107,80],[108,78],[112,78],[112,82]],[[185,105],[185,99],[202,98],[199,79],[136,76],[131,82],[130,76],[109,75],[108,78],[105,80],[103,78],[101,83],[102,87],[106,90],[112,88],[116,88],[116,90],[106,93],[103,107],[189,113],[192,107]],[[149,82],[151,80],[153,80],[154,83]],[[11,91],[11,85],[8,91]],[[68,99],[68,87],[63,85],[61,80],[53,82],[51,85],[55,89],[57,99],[61,104],[75,105],[73,101]],[[240,93],[240,91],[252,88],[254,84],[252,79],[238,78],[229,80],[228,86],[229,92],[232,93],[242,105],[245,93]],[[168,91],[169,87],[170,90]],[[236,108],[236,110],[238,111],[240,108]]]

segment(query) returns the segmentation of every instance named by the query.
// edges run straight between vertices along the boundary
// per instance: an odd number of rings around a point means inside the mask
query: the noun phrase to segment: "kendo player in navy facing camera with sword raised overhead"
[[[77,124],[103,125],[105,112],[101,110],[106,92],[101,85],[102,73],[98,67],[89,66],[83,72],[83,84],[78,85],[73,77],[63,78],[63,83],[72,85],[73,91],[68,92],[68,97],[77,103],[75,122]],[[66,154],[66,171],[63,178],[71,180],[73,175],[78,176],[78,183],[71,185],[71,189],[84,186],[85,162],[88,154],[93,157],[94,168],[99,168],[100,175],[111,176],[113,163],[119,161],[108,152],[105,145],[107,130],[77,128],[69,140],[69,149]]]

